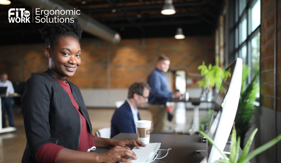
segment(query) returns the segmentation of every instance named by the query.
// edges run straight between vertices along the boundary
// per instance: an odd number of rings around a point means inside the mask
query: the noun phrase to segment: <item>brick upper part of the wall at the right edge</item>
[[[277,111],[281,112],[281,9],[277,16]],[[261,1],[260,105],[274,109],[275,0]]]

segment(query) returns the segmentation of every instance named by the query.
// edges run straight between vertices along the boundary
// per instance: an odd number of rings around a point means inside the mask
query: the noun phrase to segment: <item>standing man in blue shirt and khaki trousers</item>
[[[178,98],[182,94],[180,92],[170,92],[167,88],[168,82],[165,72],[170,66],[170,59],[167,56],[160,56],[157,61],[156,68],[148,76],[148,84],[151,88],[148,97],[148,109],[152,114],[153,131],[163,132],[167,119],[166,102],[168,99]]]

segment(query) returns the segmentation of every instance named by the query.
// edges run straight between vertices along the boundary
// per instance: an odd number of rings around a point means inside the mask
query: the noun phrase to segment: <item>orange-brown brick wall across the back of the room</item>
[[[44,43],[0,48],[1,61],[4,61],[1,70],[7,72],[13,82],[25,82],[32,74],[48,67]],[[147,80],[161,54],[171,59],[170,70],[200,74],[197,67],[203,60],[214,64],[214,37],[148,38],[145,45],[140,39],[124,39],[117,45],[81,41],[81,51],[81,65],[69,81],[78,88],[128,88],[135,81]],[[197,85],[189,85],[191,87]]]

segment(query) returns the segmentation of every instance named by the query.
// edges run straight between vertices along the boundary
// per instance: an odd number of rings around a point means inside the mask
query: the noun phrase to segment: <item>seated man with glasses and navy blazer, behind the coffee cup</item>
[[[111,136],[123,133],[137,133],[137,122],[140,120],[138,107],[148,102],[150,87],[146,82],[133,83],[128,92],[128,99],[117,108],[111,120]]]

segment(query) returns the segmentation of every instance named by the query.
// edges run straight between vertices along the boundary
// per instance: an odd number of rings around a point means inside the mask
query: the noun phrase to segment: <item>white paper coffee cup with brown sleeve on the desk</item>
[[[137,121],[138,139],[142,141],[142,143],[144,144],[149,143],[150,127],[151,127],[151,121],[147,121],[147,120]]]

